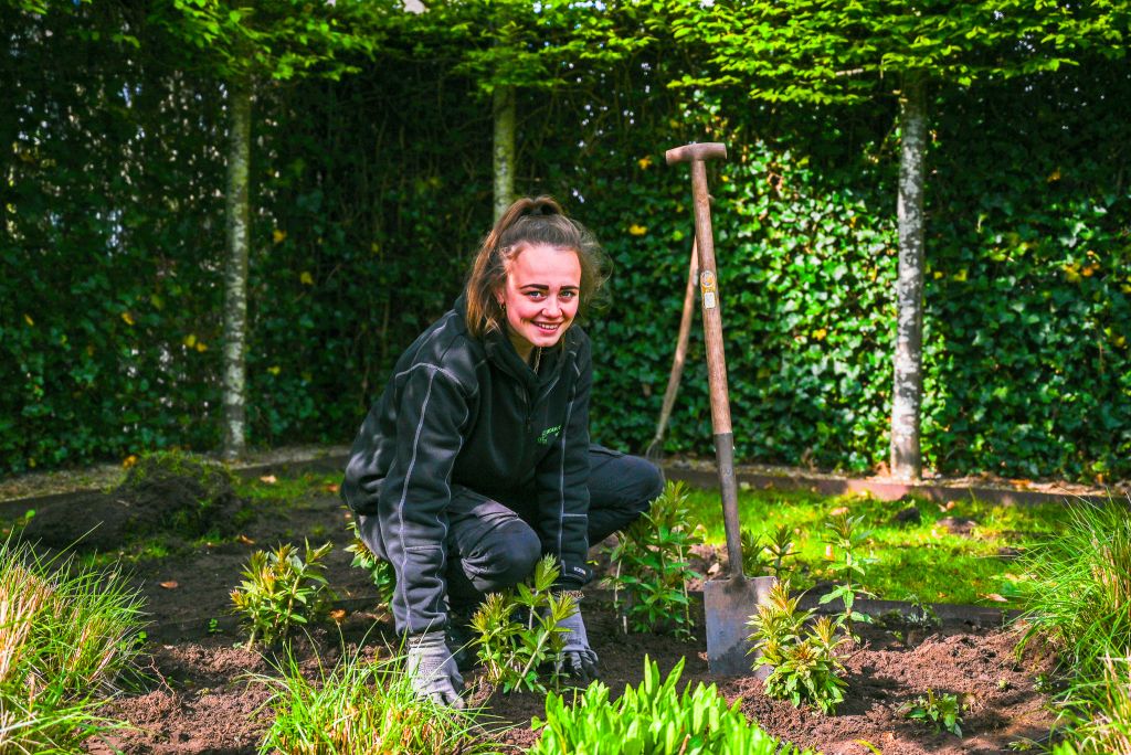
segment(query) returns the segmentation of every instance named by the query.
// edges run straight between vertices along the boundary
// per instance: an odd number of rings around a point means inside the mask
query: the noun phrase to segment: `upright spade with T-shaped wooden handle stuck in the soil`
[[[766,602],[774,587],[772,576],[748,579],[742,571],[742,536],[739,524],[739,493],[734,479],[734,432],[731,428],[729,391],[726,384],[726,356],[723,353],[723,315],[719,311],[718,275],[715,266],[715,238],[710,224],[707,193],[708,159],[725,159],[726,145],[717,142],[687,145],[668,149],[668,165],[691,163],[691,196],[696,216],[696,246],[699,249],[699,292],[702,302],[703,333],[707,341],[707,376],[710,383],[710,419],[715,434],[715,459],[723,496],[723,523],[729,576],[703,583],[707,611],[707,665],[711,674],[749,676],[751,643],[746,626],[758,605]],[[766,667],[759,676],[768,672]]]

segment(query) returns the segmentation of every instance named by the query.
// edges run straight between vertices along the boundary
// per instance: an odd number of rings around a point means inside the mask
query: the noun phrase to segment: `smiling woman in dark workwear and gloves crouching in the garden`
[[[392,615],[417,693],[461,705],[444,631],[544,554],[558,587],[659,495],[654,466],[589,444],[589,339],[576,326],[603,284],[593,236],[549,197],[520,199],[484,238],[454,310],[402,355],[351,451],[342,494],[392,564]],[[575,597],[580,597],[575,593]],[[596,674],[578,610],[561,667]]]

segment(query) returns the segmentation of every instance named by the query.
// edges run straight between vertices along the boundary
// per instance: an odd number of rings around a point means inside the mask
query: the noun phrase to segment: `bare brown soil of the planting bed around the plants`
[[[167,504],[176,491],[166,488],[165,495]],[[92,512],[113,518],[112,512],[122,507],[120,497],[83,493],[53,498],[50,505],[58,507],[53,513],[83,512],[75,517],[52,515],[53,540],[78,540]],[[135,509],[140,505],[130,503]],[[8,513],[0,510],[0,518]],[[312,545],[325,540],[335,545],[328,574],[346,615],[337,630],[331,625],[300,643],[297,653],[309,667],[314,666],[316,651],[333,662],[339,652],[339,632],[353,645],[365,642],[378,648],[391,641],[391,624],[375,609],[368,575],[349,565],[351,554],[345,552],[351,540],[345,530],[349,517],[337,495],[327,491],[299,503],[260,506],[238,538],[185,545],[174,555],[139,563],[132,579],[150,611],[144,658],[146,679],[105,711],[128,720],[132,728],[115,732],[107,741],[88,743],[88,752],[258,752],[271,713],[265,708],[267,691],[250,682],[248,675],[269,674],[271,665],[269,657],[242,648],[235,618],[228,614],[228,592],[239,583],[249,555],[258,548],[280,541],[301,545],[304,538],[310,538]],[[105,543],[100,545],[105,549]],[[701,606],[697,610],[701,627]],[[865,627],[863,644],[845,659],[847,698],[835,715],[824,715],[814,709],[795,709],[788,702],[767,698],[752,675],[713,676],[701,632],[699,640],[689,642],[654,634],[624,635],[599,592],[586,600],[585,615],[589,639],[601,658],[602,680],[614,696],[625,685],[639,684],[646,656],[657,661],[665,675],[685,657],[684,682],[716,684],[728,701],[741,698],[742,711],[772,735],[830,755],[863,755],[873,752],[869,744],[884,755],[1001,753],[1016,740],[1044,739],[1052,726],[1047,700],[1035,689],[1035,678],[1051,671],[1053,658],[1030,650],[1016,659],[1018,637],[1000,626],[950,622],[930,633],[905,631],[898,635]],[[542,695],[492,694],[474,672],[466,678],[473,704],[484,705],[489,713],[513,724],[503,735],[507,744],[528,746],[536,740],[530,718],[544,714]],[[898,711],[929,688],[962,697],[967,705],[962,738],[936,734]]]

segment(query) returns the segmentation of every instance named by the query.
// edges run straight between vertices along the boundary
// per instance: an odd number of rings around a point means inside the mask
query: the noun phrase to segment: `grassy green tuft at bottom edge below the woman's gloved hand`
[[[275,718],[259,746],[264,755],[499,752],[483,736],[480,711],[421,700],[399,659],[354,652],[328,672],[319,659],[314,683],[287,652],[276,674],[251,677],[271,691],[264,709]]]

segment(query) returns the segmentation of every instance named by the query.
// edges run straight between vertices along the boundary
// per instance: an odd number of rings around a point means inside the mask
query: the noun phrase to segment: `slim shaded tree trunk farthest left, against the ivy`
[[[244,450],[244,344],[248,327],[248,175],[251,158],[251,87],[228,83],[227,238],[224,261],[224,458]]]

